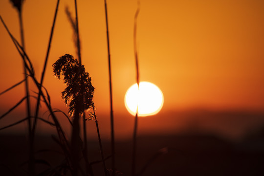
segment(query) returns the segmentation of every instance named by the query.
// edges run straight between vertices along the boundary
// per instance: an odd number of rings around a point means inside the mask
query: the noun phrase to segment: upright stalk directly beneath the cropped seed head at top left
[[[20,36],[21,36],[21,44],[23,49],[25,50],[24,43],[24,30],[23,30],[23,21],[22,21],[22,8],[19,11],[19,24],[20,24]],[[23,55],[24,60],[24,55]],[[28,79],[27,79],[27,70],[25,64],[23,64],[24,69],[24,79],[25,79],[25,92],[26,92],[26,112],[28,117],[28,134],[29,134],[29,163],[28,163],[28,171],[29,176],[35,175],[35,156],[34,156],[34,147],[31,145],[32,143],[32,131],[31,131],[31,110],[30,110],[30,96],[29,96],[29,88],[28,88]]]

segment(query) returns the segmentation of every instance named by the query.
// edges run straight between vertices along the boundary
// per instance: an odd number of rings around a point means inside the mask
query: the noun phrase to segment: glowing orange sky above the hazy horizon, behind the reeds
[[[73,0],[61,0],[44,86],[54,108],[66,110],[52,64],[65,53],[76,57],[73,33],[65,14]],[[25,47],[40,78],[56,0],[25,0]],[[108,0],[113,108],[130,118],[124,105],[135,82],[133,16],[136,0]],[[82,62],[95,90],[98,113],[109,113],[109,80],[103,0],[79,0]],[[20,39],[18,14],[9,0],[0,15]],[[138,17],[141,81],[164,95],[162,111],[205,108],[264,110],[263,0],[141,0]],[[0,91],[23,79],[22,60],[0,24]],[[23,96],[23,86],[0,96],[0,114]],[[31,84],[31,90],[36,88]],[[32,93],[34,94],[34,93]],[[127,118],[127,117],[126,117]]]

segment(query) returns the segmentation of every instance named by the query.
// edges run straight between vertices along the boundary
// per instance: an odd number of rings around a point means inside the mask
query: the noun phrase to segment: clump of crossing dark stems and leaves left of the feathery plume
[[[22,0],[13,0],[13,5],[18,9],[19,11],[19,17],[20,17],[20,26],[22,26]],[[52,29],[51,29],[51,34],[50,34],[50,40],[49,40],[49,44],[48,44],[48,49],[47,49],[47,54],[46,54],[46,59],[45,59],[45,64],[44,64],[44,69],[43,69],[43,74],[42,74],[42,78],[41,78],[41,82],[38,82],[37,81],[37,78],[35,77],[35,72],[34,72],[34,67],[32,66],[31,64],[31,61],[29,59],[29,57],[27,56],[25,50],[24,50],[24,42],[23,42],[23,32],[21,32],[21,36],[22,36],[22,44],[19,44],[19,42],[14,38],[14,36],[10,33],[8,27],[6,26],[5,22],[3,21],[3,19],[1,18],[0,16],[0,20],[1,22],[3,23],[5,29],[7,30],[9,36],[11,37],[13,43],[15,44],[20,56],[22,57],[22,61],[23,61],[23,66],[25,68],[25,79],[22,80],[21,82],[15,84],[14,86],[12,86],[11,88],[8,88],[7,90],[3,91],[2,93],[5,93],[9,90],[11,90],[12,88],[15,88],[16,86],[20,85],[22,82],[27,82],[27,77],[29,76],[30,78],[32,78],[33,80],[33,83],[36,85],[37,88],[39,88],[39,93],[38,93],[38,100],[37,100],[37,106],[36,106],[36,115],[35,115],[35,118],[34,118],[34,125],[32,127],[31,125],[31,118],[32,116],[30,115],[30,105],[28,105],[27,103],[27,117],[18,121],[18,122],[15,122],[13,124],[10,124],[10,125],[7,125],[3,128],[1,128],[0,130],[3,130],[3,129],[6,129],[6,128],[9,128],[9,127],[12,127],[14,125],[18,125],[20,123],[22,123],[23,121],[25,120],[28,120],[28,129],[29,129],[29,168],[28,168],[28,173],[29,173],[29,176],[35,176],[35,158],[34,158],[34,136],[35,136],[35,129],[36,129],[36,122],[38,119],[44,121],[45,123],[48,123],[50,125],[53,125],[56,127],[57,129],[57,133],[58,133],[58,136],[59,136],[59,143],[61,145],[61,147],[63,148],[63,151],[65,152],[65,155],[68,156],[69,155],[69,145],[67,143],[67,138],[66,138],[66,135],[65,135],[65,132],[63,131],[56,115],[54,114],[53,112],[53,109],[51,108],[51,104],[50,104],[50,96],[47,92],[47,90],[43,87],[43,80],[44,80],[44,72],[45,72],[45,68],[46,68],[46,63],[47,63],[47,59],[48,59],[48,53],[49,53],[49,50],[50,50],[50,44],[51,44],[51,39],[52,39],[52,34],[53,34],[53,30],[54,30],[54,25],[55,25],[55,20],[56,20],[56,15],[57,15],[57,11],[58,11],[58,5],[59,5],[59,0],[57,1],[57,7],[56,7],[56,11],[55,11],[55,16],[54,16],[54,21],[53,21],[53,25],[52,25]],[[21,27],[21,31],[22,30],[22,27]],[[43,92],[43,89],[44,88],[44,92]],[[28,86],[26,87],[26,92],[28,90]],[[1,118],[3,118],[4,116],[6,116],[8,113],[10,113],[12,110],[14,110],[15,108],[17,108],[24,100],[27,100],[29,99],[29,93],[26,93],[26,97],[22,98],[21,101],[19,101],[14,107],[12,107],[10,110],[8,110],[6,113],[4,113]],[[40,118],[38,117],[38,110],[39,110],[39,107],[40,107],[40,100],[41,98],[43,99],[47,109],[49,110],[50,112],[50,115],[54,121],[54,123],[51,123],[47,120],[44,120],[43,118]],[[27,101],[29,102],[29,100]]]

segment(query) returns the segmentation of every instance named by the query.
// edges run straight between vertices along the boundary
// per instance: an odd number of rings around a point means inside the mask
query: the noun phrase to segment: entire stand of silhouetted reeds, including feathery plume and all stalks
[[[44,87],[44,76],[47,67],[47,62],[49,58],[49,51],[51,48],[54,28],[57,19],[58,8],[60,4],[60,0],[57,0],[55,14],[53,18],[53,23],[51,26],[47,51],[44,59],[44,66],[42,69],[42,74],[40,81],[36,78],[34,66],[31,63],[29,56],[25,51],[24,44],[24,35],[23,35],[23,23],[22,23],[22,3],[23,0],[11,0],[14,7],[17,8],[19,12],[20,26],[21,26],[21,43],[11,34],[2,17],[0,16],[0,21],[4,25],[8,35],[10,36],[12,42],[14,43],[17,51],[19,52],[24,69],[24,79],[19,83],[7,88],[6,90],[0,93],[6,93],[7,91],[12,90],[13,88],[25,84],[25,96],[11,109],[7,110],[4,114],[0,116],[0,119],[7,116],[11,111],[15,110],[22,102],[26,101],[26,117],[21,120],[6,125],[5,127],[0,128],[0,130],[10,128],[12,126],[18,125],[24,121],[27,121],[28,124],[28,135],[29,135],[29,160],[28,160],[28,175],[29,176],[65,176],[70,173],[71,176],[93,176],[92,164],[95,162],[90,162],[88,159],[88,139],[87,139],[87,122],[89,120],[95,119],[96,131],[98,135],[99,141],[99,150],[101,153],[101,161],[103,164],[103,170],[105,176],[111,175],[115,176],[116,166],[115,166],[115,139],[114,139],[114,117],[113,117],[113,103],[112,103],[112,82],[111,82],[111,58],[110,58],[110,39],[109,39],[109,22],[108,22],[108,9],[107,9],[107,1],[104,0],[105,7],[105,18],[106,18],[106,32],[107,32],[107,48],[108,48],[108,67],[109,67],[109,90],[110,90],[110,133],[111,133],[111,169],[107,169],[105,160],[109,157],[105,157],[102,140],[100,136],[100,130],[96,115],[96,108],[94,105],[93,95],[94,95],[94,87],[91,83],[91,77],[88,72],[85,70],[84,65],[82,65],[81,58],[81,44],[80,44],[80,34],[79,34],[79,24],[78,24],[78,8],[77,8],[77,0],[74,0],[75,5],[75,19],[72,18],[69,10],[66,8],[66,15],[71,23],[73,28],[74,36],[75,36],[75,47],[77,50],[78,59],[75,59],[70,54],[65,54],[61,56],[53,65],[53,73],[54,75],[60,79],[61,76],[66,84],[65,90],[62,92],[62,98],[65,101],[65,104],[68,106],[68,114],[64,115],[68,119],[71,125],[71,138],[70,141],[66,136],[64,129],[62,128],[58,117],[56,116],[56,112],[62,112],[61,110],[53,109],[51,106],[51,97],[49,96],[48,90]],[[138,53],[136,46],[136,30],[137,30],[137,17],[140,10],[140,4],[138,0],[137,10],[134,16],[134,57],[136,63],[136,82],[139,86],[139,66],[138,66]],[[30,94],[29,94],[29,85],[28,80],[32,80],[33,84],[38,88],[37,99],[36,101],[36,109],[35,115],[31,115],[31,105],[30,105]],[[49,112],[49,116],[51,116],[52,121],[46,120],[40,117],[40,107],[41,102],[44,102],[45,107]],[[89,111],[88,115],[86,112]],[[47,170],[42,173],[37,173],[36,171],[36,163],[37,159],[35,158],[35,138],[37,131],[37,122],[38,120],[43,121],[46,124],[52,125],[56,128],[57,137],[52,136],[53,140],[60,146],[63,151],[65,159],[58,166],[50,166]],[[136,138],[137,138],[137,123],[138,123],[138,113],[136,112],[134,119],[134,130],[132,137],[132,176],[142,175],[148,165],[151,163],[153,159],[151,159],[144,167],[140,170],[138,174],[136,174]],[[32,123],[33,122],[33,123]],[[81,128],[81,124],[83,127]],[[81,129],[83,130],[81,132]],[[83,137],[81,137],[83,136]],[[162,152],[160,152],[162,153]],[[82,162],[84,160],[84,164]]]

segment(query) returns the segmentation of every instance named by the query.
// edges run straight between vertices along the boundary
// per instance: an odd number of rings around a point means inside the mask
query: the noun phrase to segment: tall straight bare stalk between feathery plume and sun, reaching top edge
[[[115,176],[115,144],[114,144],[114,118],[113,118],[113,100],[112,100],[112,79],[111,79],[111,58],[110,58],[110,44],[109,44],[109,27],[107,2],[105,0],[105,16],[107,29],[107,49],[108,49],[108,69],[109,69],[109,90],[110,90],[110,122],[111,122],[111,153],[112,153],[112,176]]]

